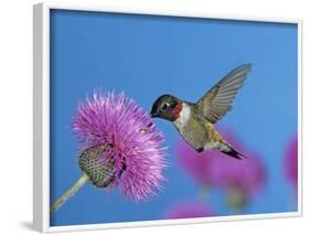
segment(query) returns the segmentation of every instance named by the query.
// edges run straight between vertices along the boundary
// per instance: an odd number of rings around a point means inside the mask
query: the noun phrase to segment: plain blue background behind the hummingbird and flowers
[[[71,119],[94,88],[121,92],[146,110],[162,94],[194,101],[236,66],[253,63],[234,109],[221,125],[260,153],[268,174],[246,214],[296,211],[284,175],[284,149],[297,132],[297,25],[99,12],[51,12],[51,203],[81,175]],[[165,190],[147,203],[86,184],[52,215],[51,225],[161,218],[197,184],[177,163],[180,139],[157,120],[169,146]],[[223,194],[210,205],[227,214]]]

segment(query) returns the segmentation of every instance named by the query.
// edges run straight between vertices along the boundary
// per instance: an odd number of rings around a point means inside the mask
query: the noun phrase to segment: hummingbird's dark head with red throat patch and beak
[[[182,101],[172,95],[162,95],[153,103],[151,117],[174,121],[182,110]]]

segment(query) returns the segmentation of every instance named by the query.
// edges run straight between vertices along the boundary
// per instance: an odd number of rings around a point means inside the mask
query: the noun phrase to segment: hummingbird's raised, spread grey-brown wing
[[[250,68],[252,65],[246,64],[233,69],[196,103],[210,122],[215,124],[232,108],[231,104]]]

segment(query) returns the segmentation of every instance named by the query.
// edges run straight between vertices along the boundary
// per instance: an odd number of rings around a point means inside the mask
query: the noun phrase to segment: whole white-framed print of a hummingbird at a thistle
[[[40,232],[301,215],[301,20],[34,6]]]

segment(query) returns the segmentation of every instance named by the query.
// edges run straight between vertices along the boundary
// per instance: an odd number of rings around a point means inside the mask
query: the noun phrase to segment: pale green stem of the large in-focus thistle
[[[73,184],[57,201],[51,206],[50,214],[56,212],[71,196],[73,196],[87,181],[89,176],[86,173]]]

